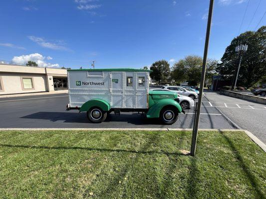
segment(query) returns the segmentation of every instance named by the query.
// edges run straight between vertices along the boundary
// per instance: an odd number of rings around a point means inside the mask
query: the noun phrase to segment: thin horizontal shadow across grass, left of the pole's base
[[[89,148],[89,147],[49,147],[49,146],[28,146],[28,145],[11,145],[11,144],[0,144],[0,147],[11,147],[11,148],[31,148],[31,149],[51,149],[51,150],[88,150],[88,151],[100,151],[100,152],[125,152],[125,153],[140,153],[140,154],[165,154],[165,155],[185,155],[181,152],[170,153],[167,151],[134,151],[126,149],[101,149],[101,148]]]

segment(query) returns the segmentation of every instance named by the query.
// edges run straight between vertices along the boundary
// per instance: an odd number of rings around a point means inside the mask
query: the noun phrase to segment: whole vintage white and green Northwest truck
[[[108,113],[144,112],[147,118],[160,118],[172,124],[182,111],[177,94],[149,91],[149,70],[77,69],[67,70],[69,103],[67,110],[87,112],[93,123],[105,120]]]

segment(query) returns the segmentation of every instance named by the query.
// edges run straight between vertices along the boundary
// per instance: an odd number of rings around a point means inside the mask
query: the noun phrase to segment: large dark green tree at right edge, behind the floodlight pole
[[[221,74],[224,79],[231,80],[239,64],[239,53],[236,46],[247,44],[248,50],[243,53],[237,85],[251,87],[266,75],[266,26],[258,31],[247,31],[234,38],[221,59],[219,67],[223,67]]]

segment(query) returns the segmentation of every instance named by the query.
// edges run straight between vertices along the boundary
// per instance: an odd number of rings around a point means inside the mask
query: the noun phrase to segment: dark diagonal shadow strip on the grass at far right
[[[260,199],[265,199],[265,195],[263,194],[263,192],[259,188],[258,182],[257,182],[255,176],[250,172],[250,169],[245,164],[245,162],[244,162],[241,154],[239,153],[239,151],[235,147],[234,143],[230,140],[230,138],[228,136],[226,136],[224,134],[224,132],[220,131],[220,133],[223,135],[223,137],[225,138],[225,140],[227,141],[227,143],[231,147],[231,150],[234,152],[235,157],[239,160],[238,161],[239,162],[239,165],[242,167],[242,169],[245,172],[245,174],[246,174],[247,178],[249,179],[250,183],[252,184],[252,186],[256,190],[256,193],[257,193],[258,197]]]

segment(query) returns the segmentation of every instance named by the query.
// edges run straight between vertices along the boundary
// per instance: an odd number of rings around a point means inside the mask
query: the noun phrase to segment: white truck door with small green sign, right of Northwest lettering
[[[111,107],[123,108],[123,72],[111,72]]]

